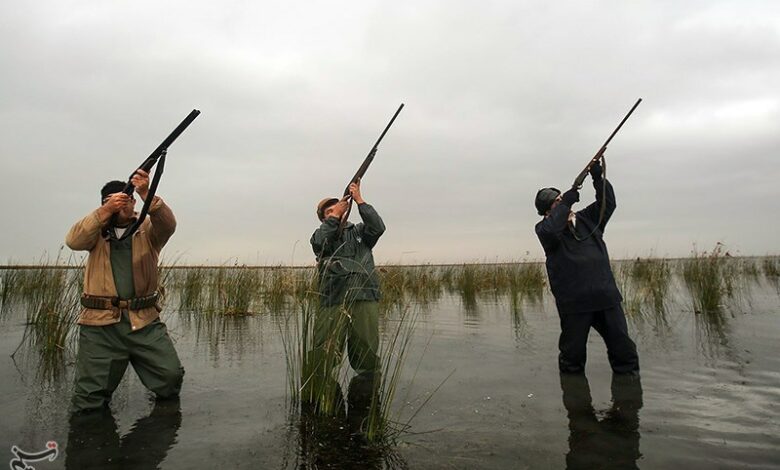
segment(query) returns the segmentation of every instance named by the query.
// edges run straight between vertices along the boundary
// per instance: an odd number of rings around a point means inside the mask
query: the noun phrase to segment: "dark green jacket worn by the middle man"
[[[338,237],[339,220],[329,217],[311,236],[317,256],[320,304],[324,307],[356,300],[379,300],[379,276],[374,248],[385,224],[369,204],[358,204],[363,223],[348,223]]]

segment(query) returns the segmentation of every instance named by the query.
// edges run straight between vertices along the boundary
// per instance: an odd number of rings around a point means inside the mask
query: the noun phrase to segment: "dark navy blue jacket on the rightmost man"
[[[536,224],[536,235],[547,256],[550,289],[561,314],[603,310],[623,300],[602,238],[616,207],[615,191],[608,181],[606,194],[602,195],[603,181],[601,178],[593,181],[596,202],[576,213],[576,228],[568,222],[571,206],[565,200]],[[606,204],[604,220],[596,227],[602,203]],[[593,235],[583,241],[576,240],[572,233],[576,231],[583,238],[594,228]]]

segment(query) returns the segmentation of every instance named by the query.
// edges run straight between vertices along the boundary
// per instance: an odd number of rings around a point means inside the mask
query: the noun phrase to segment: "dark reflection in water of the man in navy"
[[[599,420],[593,409],[588,379],[583,374],[561,374],[563,405],[569,416],[567,469],[638,468],[639,377],[612,376],[612,407]]]

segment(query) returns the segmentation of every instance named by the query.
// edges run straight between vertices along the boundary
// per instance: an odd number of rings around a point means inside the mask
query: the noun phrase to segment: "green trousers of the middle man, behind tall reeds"
[[[301,398],[324,414],[336,414],[343,399],[336,374],[345,343],[349,364],[358,375],[379,375],[379,303],[321,307],[312,330],[312,349],[302,367]]]

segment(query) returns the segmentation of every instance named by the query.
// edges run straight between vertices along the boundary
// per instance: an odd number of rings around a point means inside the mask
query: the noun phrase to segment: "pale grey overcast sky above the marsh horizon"
[[[56,253],[198,108],[165,256],[311,263],[314,205],[400,102],[363,184],[378,261],[540,258],[536,190],[637,97],[607,152],[611,255],[778,251],[780,2],[5,1],[0,43],[2,262]]]

